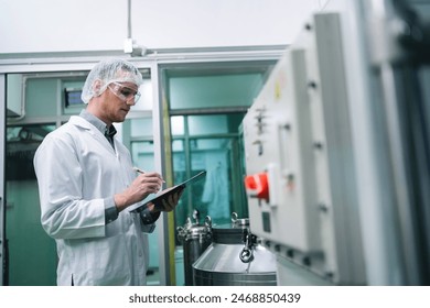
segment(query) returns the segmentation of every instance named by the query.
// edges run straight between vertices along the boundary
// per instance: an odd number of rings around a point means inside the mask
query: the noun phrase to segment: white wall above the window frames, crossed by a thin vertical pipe
[[[284,45],[323,0],[132,0],[151,50]],[[0,0],[0,54],[123,50],[127,0]]]

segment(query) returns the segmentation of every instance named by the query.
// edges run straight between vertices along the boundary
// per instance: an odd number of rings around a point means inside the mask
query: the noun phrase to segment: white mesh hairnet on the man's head
[[[136,66],[127,61],[101,61],[89,72],[82,91],[82,100],[88,103],[93,97],[101,95],[111,82],[132,82],[139,87],[143,79]]]

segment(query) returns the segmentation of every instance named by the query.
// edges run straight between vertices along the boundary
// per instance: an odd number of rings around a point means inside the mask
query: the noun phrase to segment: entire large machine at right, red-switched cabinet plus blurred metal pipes
[[[243,121],[250,228],[279,285],[430,283],[430,32],[383,2],[327,1]]]

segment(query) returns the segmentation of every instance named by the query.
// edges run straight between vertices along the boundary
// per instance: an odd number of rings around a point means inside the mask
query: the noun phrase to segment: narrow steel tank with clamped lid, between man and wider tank
[[[206,218],[204,224],[198,222],[198,211],[193,212],[194,222],[190,218],[183,227],[178,227],[178,238],[184,251],[184,279],[186,286],[194,285],[193,263],[211,244],[211,220]]]

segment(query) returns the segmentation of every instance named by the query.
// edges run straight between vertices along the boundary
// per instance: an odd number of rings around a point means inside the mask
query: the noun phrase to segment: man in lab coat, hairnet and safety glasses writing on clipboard
[[[139,99],[142,76],[130,63],[105,61],[89,73],[79,116],[51,132],[34,156],[41,222],[57,244],[58,285],[144,285],[148,239],[160,212],[129,206],[155,194],[158,173],[136,174],[130,152],[114,138]],[[163,202],[178,205],[182,191]]]

